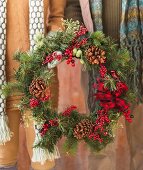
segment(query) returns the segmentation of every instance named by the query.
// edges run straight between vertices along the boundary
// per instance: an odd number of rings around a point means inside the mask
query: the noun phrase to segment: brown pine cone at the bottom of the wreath
[[[86,136],[90,135],[93,129],[93,124],[88,119],[83,119],[79,122],[76,127],[74,128],[73,135],[77,139],[85,138]]]

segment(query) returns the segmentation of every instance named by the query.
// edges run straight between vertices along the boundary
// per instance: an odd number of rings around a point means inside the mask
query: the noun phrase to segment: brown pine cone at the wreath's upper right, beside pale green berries
[[[87,60],[91,64],[102,64],[105,63],[105,51],[96,47],[90,46],[85,52]]]

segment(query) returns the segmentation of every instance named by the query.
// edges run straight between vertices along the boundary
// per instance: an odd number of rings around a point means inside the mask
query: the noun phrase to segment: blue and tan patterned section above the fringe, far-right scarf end
[[[120,40],[143,34],[143,0],[123,0]]]

